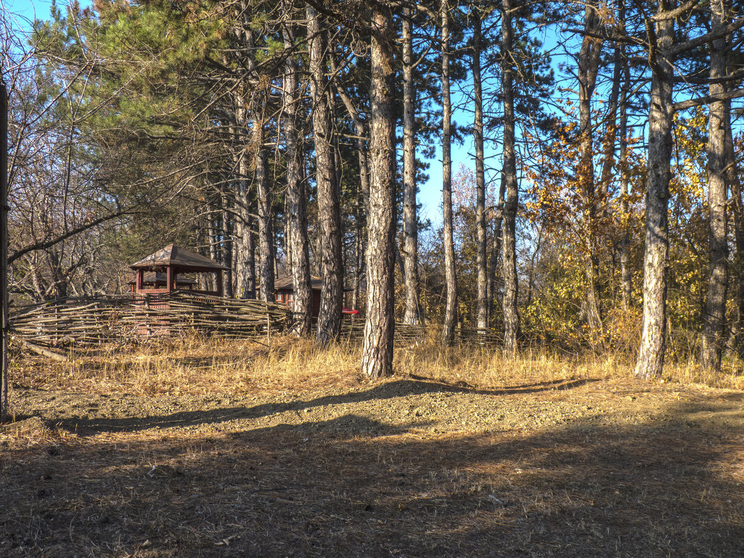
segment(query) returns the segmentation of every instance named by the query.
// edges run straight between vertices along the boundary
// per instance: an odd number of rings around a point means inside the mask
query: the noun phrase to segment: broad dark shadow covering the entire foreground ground
[[[422,437],[347,414],[62,438],[4,451],[0,554],[742,556],[742,436],[691,427],[699,411],[526,434]]]

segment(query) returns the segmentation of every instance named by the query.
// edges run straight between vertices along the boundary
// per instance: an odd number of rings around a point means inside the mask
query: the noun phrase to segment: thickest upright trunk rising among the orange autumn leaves
[[[580,169],[579,179],[586,221],[586,254],[584,257],[584,280],[586,280],[586,324],[591,339],[596,341],[601,335],[600,296],[597,288],[597,218],[600,212],[600,199],[594,183],[594,129],[591,123],[591,97],[597,84],[602,42],[590,36],[596,34],[599,22],[597,6],[594,2],[586,4],[584,11],[584,35],[578,59],[579,75],[579,129],[580,129]]]

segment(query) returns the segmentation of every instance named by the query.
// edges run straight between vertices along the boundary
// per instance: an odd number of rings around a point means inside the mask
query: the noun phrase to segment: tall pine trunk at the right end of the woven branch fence
[[[312,330],[312,286],[310,283],[310,251],[307,239],[305,186],[301,178],[302,150],[298,133],[297,61],[292,54],[295,36],[292,28],[292,3],[283,1],[285,25],[284,49],[288,52],[284,64],[284,141],[286,142],[286,220],[289,249],[292,254],[293,316],[295,332],[310,336]]]

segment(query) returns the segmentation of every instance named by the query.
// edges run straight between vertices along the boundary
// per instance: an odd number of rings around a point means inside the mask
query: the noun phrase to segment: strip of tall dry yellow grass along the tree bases
[[[198,336],[152,344],[71,350],[67,362],[16,359],[13,381],[23,385],[84,388],[94,392],[137,394],[241,394],[255,391],[314,391],[327,385],[349,388],[365,382],[359,373],[361,347],[333,344],[321,349],[312,341],[275,337],[270,346],[255,341],[225,341]],[[527,348],[504,358],[495,347],[439,347],[434,341],[396,347],[394,368],[400,376],[425,376],[483,388],[568,379],[610,379],[632,375],[627,357],[565,356]],[[740,365],[720,373],[694,362],[667,365],[664,381],[744,388]]]

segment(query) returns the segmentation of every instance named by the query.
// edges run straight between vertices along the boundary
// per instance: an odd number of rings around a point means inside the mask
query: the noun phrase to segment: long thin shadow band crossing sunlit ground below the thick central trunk
[[[373,400],[387,400],[394,397],[409,397],[422,394],[477,394],[490,395],[494,397],[511,394],[535,394],[541,391],[566,390],[578,388],[589,382],[597,380],[555,380],[536,384],[518,385],[513,388],[500,390],[487,390],[472,388],[466,384],[452,385],[422,376],[413,376],[414,379],[398,379],[365,391],[351,391],[346,394],[324,395],[308,401],[293,401],[289,403],[261,403],[252,407],[236,406],[229,408],[214,408],[199,411],[179,411],[173,414],[153,417],[76,417],[57,421],[60,426],[70,432],[87,436],[100,432],[134,432],[153,428],[176,428],[185,426],[199,426],[203,424],[225,423],[231,420],[254,420],[268,417],[273,414],[281,414],[287,411],[300,413],[315,407],[327,405],[344,405],[347,403],[364,403]]]

